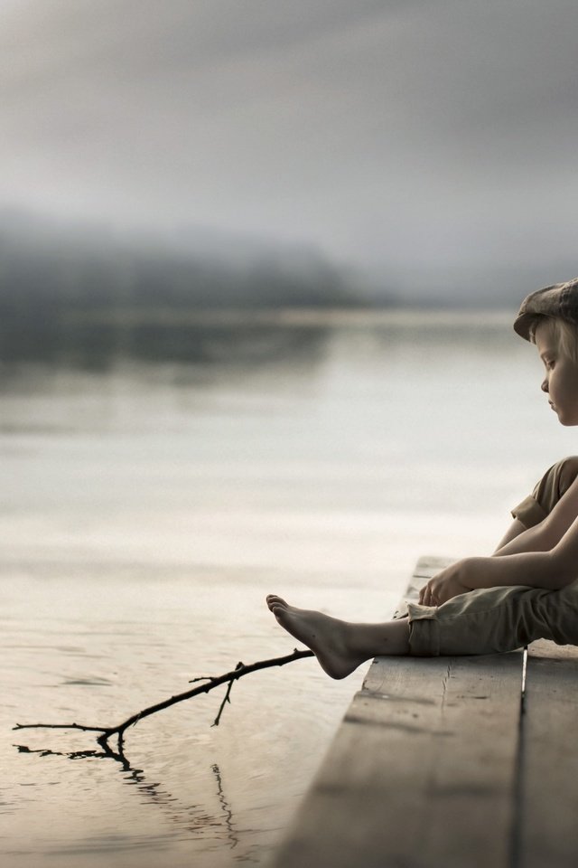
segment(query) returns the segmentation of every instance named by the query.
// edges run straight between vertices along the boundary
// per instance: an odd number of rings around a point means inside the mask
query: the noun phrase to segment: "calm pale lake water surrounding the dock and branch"
[[[363,669],[249,675],[119,722],[294,643],[275,591],[385,618],[423,553],[486,553],[508,508],[576,451],[509,316],[294,314],[5,340],[0,861],[14,868],[264,864]],[[27,750],[19,752],[14,745]]]

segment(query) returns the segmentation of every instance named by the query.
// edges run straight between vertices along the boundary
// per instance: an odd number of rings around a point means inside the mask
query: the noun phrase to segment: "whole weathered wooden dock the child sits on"
[[[574,646],[378,657],[272,866],[575,868],[577,744]]]

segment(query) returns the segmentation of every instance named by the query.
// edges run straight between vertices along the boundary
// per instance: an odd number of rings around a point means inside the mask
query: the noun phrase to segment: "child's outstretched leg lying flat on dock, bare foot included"
[[[578,645],[578,583],[563,590],[472,590],[439,608],[409,603],[409,618],[355,624],[267,597],[279,624],[310,647],[332,678],[374,656],[496,654],[535,639]]]

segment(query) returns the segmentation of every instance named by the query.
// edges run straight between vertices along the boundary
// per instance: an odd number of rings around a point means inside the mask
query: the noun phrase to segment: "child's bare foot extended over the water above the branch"
[[[311,648],[331,678],[345,678],[368,659],[367,655],[356,653],[351,648],[350,625],[346,621],[322,612],[289,606],[275,594],[269,594],[266,600],[281,627]]]

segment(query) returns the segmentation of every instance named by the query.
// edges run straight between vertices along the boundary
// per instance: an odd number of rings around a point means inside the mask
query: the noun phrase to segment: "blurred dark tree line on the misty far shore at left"
[[[0,316],[42,324],[71,312],[206,307],[349,307],[356,279],[310,249],[262,244],[243,256],[162,237],[0,214]],[[357,285],[356,285],[357,284]]]

